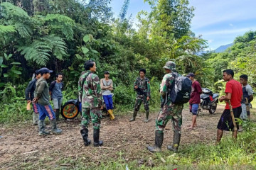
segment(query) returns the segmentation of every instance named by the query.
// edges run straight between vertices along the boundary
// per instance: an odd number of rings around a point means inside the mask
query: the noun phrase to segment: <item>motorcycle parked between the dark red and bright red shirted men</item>
[[[198,109],[198,113],[202,110],[208,110],[210,114],[215,113],[217,109],[218,97],[219,94],[213,94],[208,88],[202,88],[203,94],[200,95],[201,103],[200,108]]]

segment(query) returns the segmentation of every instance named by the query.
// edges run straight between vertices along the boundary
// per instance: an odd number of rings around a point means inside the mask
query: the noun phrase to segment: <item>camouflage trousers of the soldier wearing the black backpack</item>
[[[166,124],[171,119],[173,130],[181,134],[182,109],[183,104],[170,103],[169,105],[164,105],[156,118],[156,130],[164,132]]]

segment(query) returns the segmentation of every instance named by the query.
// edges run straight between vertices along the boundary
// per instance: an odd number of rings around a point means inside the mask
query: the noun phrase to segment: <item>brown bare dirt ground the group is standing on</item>
[[[218,106],[217,111],[210,115],[203,111],[198,115],[198,128],[187,130],[191,123],[188,109],[183,110],[183,125],[181,148],[189,143],[215,142],[216,125],[224,106]],[[116,120],[102,119],[100,139],[104,145],[99,148],[85,147],[80,135],[80,118],[72,121],[60,121],[62,135],[38,136],[38,128],[31,122],[14,126],[1,125],[0,128],[0,169],[26,169],[28,167],[43,167],[53,169],[60,166],[70,166],[64,160],[82,158],[88,164],[107,162],[110,158],[122,157],[127,162],[149,155],[146,145],[154,144],[155,118],[158,113],[149,115],[149,123],[143,123],[144,113],[139,113],[136,121],[129,123],[132,113],[116,115]],[[50,125],[47,125],[50,129]],[[89,127],[89,137],[92,140],[92,125]],[[167,124],[163,150],[172,142],[171,122]],[[230,133],[225,132],[225,135]],[[62,161],[63,160],[63,161]],[[41,169],[40,168],[40,169]]]

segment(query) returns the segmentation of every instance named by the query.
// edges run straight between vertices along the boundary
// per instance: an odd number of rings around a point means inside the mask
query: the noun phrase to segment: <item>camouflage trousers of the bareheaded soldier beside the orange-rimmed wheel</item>
[[[81,129],[88,128],[90,118],[92,119],[93,129],[100,129],[100,119],[102,118],[100,108],[82,108]]]

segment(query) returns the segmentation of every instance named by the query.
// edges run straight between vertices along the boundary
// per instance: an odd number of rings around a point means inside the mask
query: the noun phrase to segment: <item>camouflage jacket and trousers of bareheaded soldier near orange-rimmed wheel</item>
[[[82,81],[85,79],[82,86]],[[78,81],[79,101],[82,102],[82,121],[81,129],[87,129],[92,118],[94,129],[100,129],[100,119],[102,114],[100,106],[102,106],[102,92],[100,89],[100,79],[96,74],[87,71],[81,75]]]

